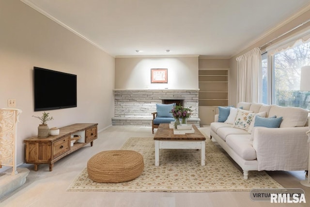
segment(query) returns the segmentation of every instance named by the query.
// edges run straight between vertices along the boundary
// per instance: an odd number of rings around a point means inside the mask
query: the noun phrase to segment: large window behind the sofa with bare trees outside
[[[267,64],[267,60],[263,63]],[[293,48],[274,54],[273,104],[310,109],[310,92],[299,90],[300,69],[305,65],[310,65],[310,43],[299,41]],[[264,68],[264,64],[262,66]]]

